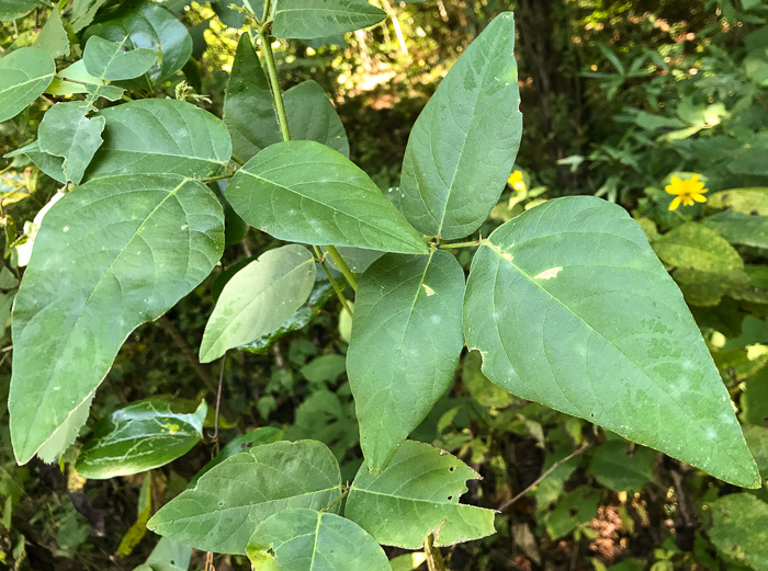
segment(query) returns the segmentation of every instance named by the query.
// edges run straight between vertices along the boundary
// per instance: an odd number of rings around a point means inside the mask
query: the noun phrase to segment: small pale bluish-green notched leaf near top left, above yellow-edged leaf
[[[157,50],[139,47],[131,49],[128,36],[122,42],[110,42],[91,36],[86,43],[82,61],[88,72],[105,81],[133,79],[143,76],[155,64]]]

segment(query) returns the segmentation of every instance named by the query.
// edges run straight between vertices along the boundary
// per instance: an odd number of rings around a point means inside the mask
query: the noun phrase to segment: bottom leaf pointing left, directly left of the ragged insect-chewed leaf
[[[319,510],[341,492],[339,465],[316,441],[275,442],[227,458],[147,526],[203,551],[246,553],[253,528],[283,510]],[[338,512],[339,503],[330,510]]]

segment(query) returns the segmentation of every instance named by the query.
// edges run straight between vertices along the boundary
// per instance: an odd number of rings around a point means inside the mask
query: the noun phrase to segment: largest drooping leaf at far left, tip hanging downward
[[[20,462],[92,397],[131,331],[208,275],[223,221],[207,187],[171,174],[99,179],[50,208],[13,309],[9,409]]]

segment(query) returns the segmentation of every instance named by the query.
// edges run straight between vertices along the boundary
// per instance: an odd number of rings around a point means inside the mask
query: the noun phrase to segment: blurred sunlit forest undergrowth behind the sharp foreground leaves
[[[57,3],[72,61],[84,27],[77,14],[93,8],[90,18],[98,20],[115,3]],[[192,57],[161,88],[131,96],[185,98],[221,116],[242,15],[227,8],[228,0],[158,3],[188,26]],[[275,44],[282,87],[317,81],[343,122],[351,159],[392,191],[410,127],[440,78],[496,14],[513,10],[523,140],[517,174],[483,235],[555,196],[590,194],[625,207],[684,290],[768,476],[768,2],[372,3],[388,14],[381,25],[325,43]],[[0,0],[0,54],[50,42],[45,26],[58,18],[52,13],[44,0]],[[53,98],[42,98],[0,124],[0,155],[34,140],[50,104]],[[4,324],[34,216],[57,183],[24,157],[2,159],[0,169]],[[694,174],[705,183],[708,202],[670,210],[674,196],[665,186],[673,176]],[[218,367],[196,361],[213,295],[229,265],[270,243],[256,231],[230,241],[221,270],[129,336],[97,395],[82,441],[95,421],[139,399],[215,402]],[[339,317],[338,302],[325,295],[304,327],[252,353],[230,352],[222,444],[263,426],[273,429],[270,437],[310,436],[331,446],[351,478],[361,453],[345,376],[349,323]],[[68,571],[142,564],[157,543],[143,532],[148,512],[183,490],[217,449],[210,442],[212,415],[206,442],[144,475],[84,481],[70,466],[76,449],[60,466],[19,467],[4,410],[11,350],[5,331],[0,566]],[[467,461],[483,480],[471,482],[465,501],[499,510],[497,535],[444,550],[454,571],[768,570],[765,488],[734,488],[586,421],[521,401],[483,377],[477,354],[464,354],[453,388],[413,437]],[[737,512],[715,509],[727,496],[737,499]],[[157,562],[160,556],[144,569],[176,569]],[[426,569],[419,553],[389,556],[395,571]],[[245,558],[206,560],[201,552],[192,553],[189,569],[211,564],[248,569]]]

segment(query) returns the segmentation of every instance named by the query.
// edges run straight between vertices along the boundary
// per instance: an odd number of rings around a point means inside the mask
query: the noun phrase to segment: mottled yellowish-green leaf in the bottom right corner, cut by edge
[[[755,571],[768,568],[768,504],[748,493],[732,493],[709,505],[710,540],[729,560]]]

